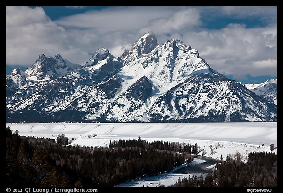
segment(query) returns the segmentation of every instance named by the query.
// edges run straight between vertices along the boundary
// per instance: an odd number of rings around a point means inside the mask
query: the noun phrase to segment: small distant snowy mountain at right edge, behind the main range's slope
[[[277,79],[268,79],[260,84],[245,84],[245,86],[255,94],[277,105]]]

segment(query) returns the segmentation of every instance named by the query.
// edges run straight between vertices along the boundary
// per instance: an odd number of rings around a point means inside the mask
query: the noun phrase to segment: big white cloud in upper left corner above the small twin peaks
[[[6,60],[7,64],[31,66],[39,55],[57,53],[76,62],[87,59],[89,54],[71,42],[69,32],[58,26],[40,7],[7,7]]]

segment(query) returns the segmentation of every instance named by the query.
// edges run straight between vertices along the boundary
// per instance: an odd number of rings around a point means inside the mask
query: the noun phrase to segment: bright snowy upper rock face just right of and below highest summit
[[[149,35],[152,34],[144,36],[148,37]],[[177,39],[155,47],[152,46],[150,48],[154,49],[150,52],[142,52],[138,56],[133,54],[137,49],[136,45],[143,45],[141,42],[143,38],[134,43],[130,54],[125,58],[124,67],[118,73],[122,79],[126,77],[122,83],[125,89],[143,76],[147,76],[158,89],[157,92],[164,93],[177,83],[187,79],[193,72],[202,69],[210,71],[209,65],[199,57],[197,50],[191,49],[190,46],[187,47]],[[144,49],[142,47],[142,50]],[[145,50],[149,51],[149,49]]]

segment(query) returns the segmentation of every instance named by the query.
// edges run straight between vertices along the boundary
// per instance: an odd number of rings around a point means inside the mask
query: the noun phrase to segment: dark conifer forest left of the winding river
[[[197,144],[119,140],[109,147],[66,146],[6,128],[6,185],[116,186],[191,162]],[[199,147],[198,147],[199,148]],[[189,150],[191,149],[191,150]],[[181,150],[181,151],[180,151]]]

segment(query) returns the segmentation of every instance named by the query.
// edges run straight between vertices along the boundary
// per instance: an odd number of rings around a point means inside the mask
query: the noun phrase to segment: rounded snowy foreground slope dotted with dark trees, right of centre
[[[210,121],[216,116],[220,121],[268,121],[276,116],[269,108],[240,83],[206,73],[189,78],[159,97],[151,106],[149,116],[157,120],[201,118]]]

